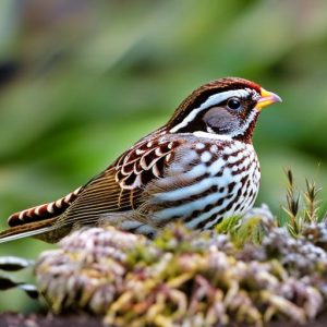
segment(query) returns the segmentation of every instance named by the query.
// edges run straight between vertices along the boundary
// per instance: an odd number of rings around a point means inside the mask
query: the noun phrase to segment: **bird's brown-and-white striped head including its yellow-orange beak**
[[[281,98],[251,81],[220,78],[195,89],[175,110],[168,130],[251,142],[261,110],[275,102]]]

